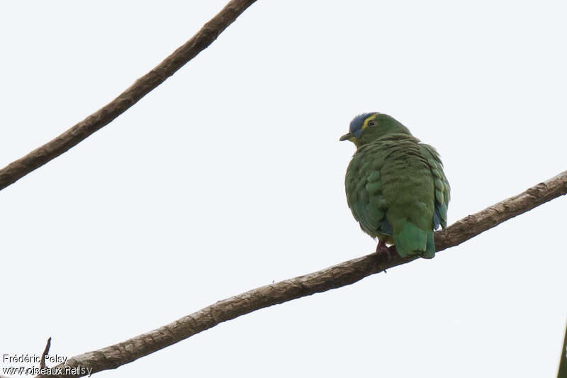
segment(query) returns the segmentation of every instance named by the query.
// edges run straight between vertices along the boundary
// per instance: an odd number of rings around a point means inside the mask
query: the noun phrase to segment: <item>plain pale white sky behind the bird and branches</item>
[[[226,1],[12,1],[0,165],[111,101]],[[116,121],[0,193],[0,355],[71,357],[366,255],[339,143],[389,113],[442,155],[449,223],[567,169],[562,1],[259,0]],[[554,377],[567,198],[100,377]],[[0,364],[6,367],[6,364]]]

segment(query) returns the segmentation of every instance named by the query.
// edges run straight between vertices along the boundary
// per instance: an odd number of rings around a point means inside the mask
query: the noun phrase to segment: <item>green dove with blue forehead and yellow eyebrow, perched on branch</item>
[[[439,154],[391,116],[354,117],[340,140],[357,146],[344,184],[360,228],[401,257],[435,255],[433,231],[447,226],[450,188]],[[389,251],[386,249],[386,252]]]

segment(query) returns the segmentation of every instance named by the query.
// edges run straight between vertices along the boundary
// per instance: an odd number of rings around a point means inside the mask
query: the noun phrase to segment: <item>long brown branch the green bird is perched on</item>
[[[449,226],[446,230],[435,233],[437,250],[441,251],[459,245],[485,230],[498,226],[507,219],[525,213],[566,193],[567,171],[546,182],[541,182],[517,196],[498,202],[498,204],[494,204],[472,216],[467,216]],[[319,272],[252,289],[223,301],[218,301],[167,326],[125,340],[123,343],[69,358],[67,365],[63,367],[92,368],[93,372],[116,369],[116,367],[133,362],[140,357],[212,328],[223,321],[229,321],[259,308],[353,284],[371,274],[415,260],[404,260],[395,255],[392,260],[387,261],[385,257],[385,254],[373,253],[322,269]],[[60,377],[68,377],[68,375]]]

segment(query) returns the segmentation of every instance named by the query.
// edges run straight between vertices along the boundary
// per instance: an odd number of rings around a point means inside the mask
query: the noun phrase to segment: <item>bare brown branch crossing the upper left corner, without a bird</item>
[[[218,35],[255,1],[230,1],[222,11],[211,18],[190,40],[175,50],[172,55],[165,58],[153,70],[137,79],[131,87],[123,91],[116,99],[113,99],[102,109],[92,113],[83,121],[69,128],[69,130],[57,136],[57,138],[50,140],[50,142],[45,143],[40,148],[28,153],[28,155],[0,169],[0,190],[26,176],[34,169],[55,159],[55,157],[62,155],[62,153],[79,144],[95,131],[111,123],[114,118],[120,116],[130,106],[140,101],[143,96],[155,89],[159,84],[162,84],[165,79],[172,76],[186,62],[189,62],[199,52],[208,48]]]

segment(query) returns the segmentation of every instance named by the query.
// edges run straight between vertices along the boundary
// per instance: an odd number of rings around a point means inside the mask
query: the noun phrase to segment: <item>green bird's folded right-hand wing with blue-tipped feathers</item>
[[[449,181],[443,172],[443,163],[439,158],[437,151],[430,145],[420,144],[420,150],[424,157],[427,158],[427,165],[431,169],[434,177],[435,187],[435,211],[433,213],[433,229],[447,227],[447,208],[451,199],[451,187]]]

